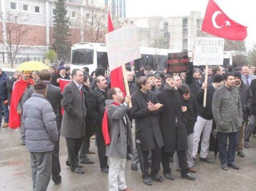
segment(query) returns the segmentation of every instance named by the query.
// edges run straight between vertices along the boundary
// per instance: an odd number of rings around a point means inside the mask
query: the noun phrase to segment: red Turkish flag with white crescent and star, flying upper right
[[[247,36],[247,27],[230,19],[214,0],[208,2],[202,31],[230,40],[242,41]]]

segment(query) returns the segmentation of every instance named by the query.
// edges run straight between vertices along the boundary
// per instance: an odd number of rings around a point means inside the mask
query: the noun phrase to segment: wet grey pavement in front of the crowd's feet
[[[133,128],[134,131],[134,128]],[[175,180],[164,179],[162,183],[153,182],[147,186],[142,183],[140,169],[132,171],[131,161],[126,163],[126,183],[136,191],[256,191],[256,139],[251,138],[250,148],[244,149],[245,158],[236,155],[239,170],[229,168],[223,171],[218,158],[208,164],[197,159],[197,179],[182,179],[171,163]],[[95,141],[91,140],[92,151],[97,151]],[[84,174],[75,174],[65,165],[67,158],[66,142],[60,138],[60,164],[62,183],[54,185],[50,181],[48,191],[107,191],[108,175],[100,171],[97,154],[88,157],[94,164],[83,164]],[[210,152],[210,158],[214,154]],[[139,165],[138,165],[139,167]],[[162,175],[162,167],[160,170]],[[19,129],[0,128],[0,191],[30,191],[32,177],[30,156],[26,146],[21,145]]]

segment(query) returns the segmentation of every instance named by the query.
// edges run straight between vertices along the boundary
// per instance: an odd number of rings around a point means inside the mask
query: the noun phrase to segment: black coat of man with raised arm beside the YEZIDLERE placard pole
[[[202,86],[202,83],[199,84],[198,81],[193,77],[193,63],[190,62],[188,64],[188,71],[186,72],[186,80],[185,83],[188,85],[188,87],[190,88],[190,91],[193,95],[196,95],[200,89],[200,87]]]

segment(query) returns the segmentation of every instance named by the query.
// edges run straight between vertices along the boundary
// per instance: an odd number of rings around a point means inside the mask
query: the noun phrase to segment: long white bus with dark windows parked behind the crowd
[[[95,71],[98,65],[108,67],[108,55],[106,44],[104,43],[77,43],[71,49],[71,71],[75,68],[82,69],[88,67],[90,73]],[[150,47],[140,47],[141,58],[134,61],[135,70],[138,71],[140,66],[150,66],[154,71],[163,71],[166,68],[168,53],[180,52],[173,49],[158,49]],[[191,57],[192,52],[188,52]],[[231,59],[230,59],[231,58]],[[157,60],[158,59],[158,64]],[[232,56],[228,52],[224,52],[223,65],[232,65]]]

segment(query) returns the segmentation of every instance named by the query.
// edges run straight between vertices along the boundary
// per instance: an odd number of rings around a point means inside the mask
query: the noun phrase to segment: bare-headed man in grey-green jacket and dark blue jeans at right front
[[[235,163],[235,154],[243,122],[242,106],[238,89],[235,88],[234,74],[226,73],[224,83],[214,92],[212,98],[212,114],[218,132],[219,159],[223,170],[227,170],[228,166],[239,169]]]

